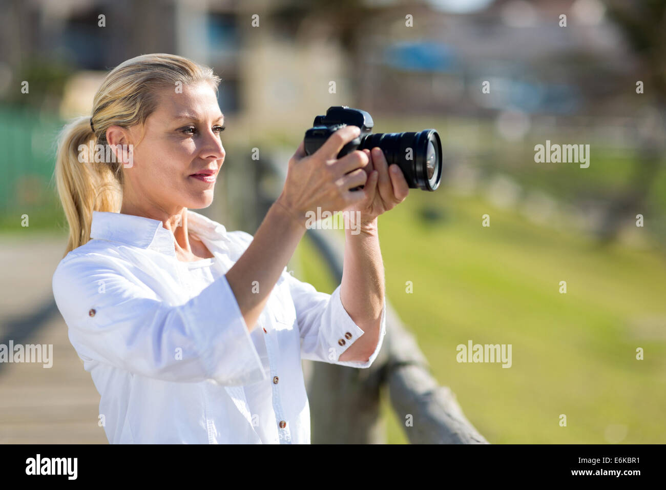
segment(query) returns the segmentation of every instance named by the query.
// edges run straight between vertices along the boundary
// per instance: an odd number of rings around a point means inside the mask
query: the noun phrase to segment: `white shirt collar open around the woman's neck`
[[[189,231],[201,239],[212,242],[221,241],[223,243],[218,245],[227,248],[224,242],[228,243],[230,239],[226,234],[226,229],[220,223],[188,209],[187,225]],[[153,249],[167,255],[176,255],[173,233],[157,219],[110,211],[93,211],[90,236],[143,249]]]

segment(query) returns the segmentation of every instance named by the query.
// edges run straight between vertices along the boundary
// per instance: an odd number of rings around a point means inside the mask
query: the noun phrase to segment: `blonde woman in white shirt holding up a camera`
[[[407,196],[402,172],[379,149],[336,159],[358,135],[344,127],[313,155],[301,143],[254,237],[227,232],[190,211],[224,161],[219,82],[182,57],[130,59],[59,139],[53,293],[111,443],[310,443],[300,360],[370,367],[382,345],[377,217]],[[90,140],[113,153],[95,162]],[[317,207],[360,211],[332,295],[286,273]]]

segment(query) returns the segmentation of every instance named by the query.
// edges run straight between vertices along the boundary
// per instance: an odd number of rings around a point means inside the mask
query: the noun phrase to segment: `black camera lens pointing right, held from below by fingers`
[[[410,189],[434,191],[442,179],[442,144],[434,129],[418,133],[374,133],[361,140],[358,149],[380,147],[388,165],[396,164]]]

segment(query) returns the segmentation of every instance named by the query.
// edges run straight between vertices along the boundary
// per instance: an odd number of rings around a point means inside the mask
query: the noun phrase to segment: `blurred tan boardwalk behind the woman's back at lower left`
[[[0,443],[108,443],[99,393],[67,337],[51,277],[65,237],[0,235],[0,344],[53,344],[53,367],[0,363]]]

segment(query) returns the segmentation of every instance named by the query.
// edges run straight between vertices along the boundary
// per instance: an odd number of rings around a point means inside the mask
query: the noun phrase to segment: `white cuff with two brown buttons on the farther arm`
[[[330,339],[335,345],[336,360],[334,363],[340,366],[348,367],[370,367],[379,354],[379,351],[382,348],[382,343],[384,343],[384,335],[386,334],[386,295],[384,296],[384,305],[382,306],[379,340],[377,342],[377,347],[375,348],[372,355],[370,355],[368,358],[368,361],[340,361],[338,359],[340,359],[342,353],[349,349],[349,347],[365,333],[361,327],[354,323],[352,317],[350,317],[349,313],[347,313],[346,309],[344,309],[344,306],[342,305],[342,299],[340,298],[340,287],[341,285],[339,285],[336,290],[333,291],[330,299],[334,311],[333,317],[340,319],[340,323],[336,323],[332,329],[332,339]]]

